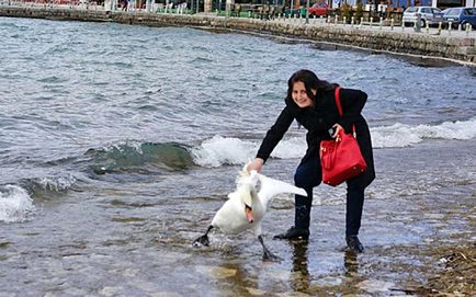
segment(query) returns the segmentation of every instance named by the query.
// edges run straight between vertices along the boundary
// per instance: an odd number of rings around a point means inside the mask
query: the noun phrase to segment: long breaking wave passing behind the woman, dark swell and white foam
[[[405,125],[371,128],[374,148],[403,148],[426,139],[472,139],[476,136],[476,118],[462,122],[444,122],[438,125]],[[95,175],[107,173],[157,174],[165,171],[188,170],[195,165],[217,168],[242,165],[254,159],[261,139],[240,139],[216,135],[199,145],[178,142],[140,142],[127,140],[91,148],[83,158],[71,162],[86,163],[87,171]],[[298,159],[307,149],[305,132],[298,136],[284,137],[273,150],[271,158]],[[84,159],[86,157],[86,159]],[[77,163],[78,164],[78,163]],[[69,178],[44,178],[35,181],[33,193],[39,191],[60,192],[75,183]]]

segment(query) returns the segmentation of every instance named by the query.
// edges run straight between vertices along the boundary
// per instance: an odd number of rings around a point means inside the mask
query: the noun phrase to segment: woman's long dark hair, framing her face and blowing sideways
[[[313,100],[313,101],[316,100],[316,96],[314,95],[313,90],[316,90],[317,94],[318,94],[322,91],[333,90],[333,89],[336,89],[336,87],[339,85],[337,83],[330,83],[328,81],[320,80],[310,70],[301,69],[301,70],[294,72],[291,76],[290,80],[287,81],[287,95],[286,95],[286,100],[285,100],[286,102],[293,102],[293,87],[294,87],[294,83],[296,83],[298,81],[304,83],[304,88],[306,88],[307,96],[310,98],[310,100]]]

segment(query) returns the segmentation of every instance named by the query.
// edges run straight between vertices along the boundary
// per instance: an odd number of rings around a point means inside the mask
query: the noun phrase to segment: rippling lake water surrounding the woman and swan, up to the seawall
[[[403,295],[474,242],[476,77],[382,55],[192,28],[0,19],[0,296]],[[234,190],[301,68],[369,93],[377,179],[364,254],[344,189],[315,190],[311,238],[277,197],[253,235],[193,239]],[[457,79],[455,79],[457,78]],[[263,173],[292,181],[293,125]]]

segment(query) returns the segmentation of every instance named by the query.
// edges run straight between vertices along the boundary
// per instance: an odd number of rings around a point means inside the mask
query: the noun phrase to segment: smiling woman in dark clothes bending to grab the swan
[[[274,238],[307,239],[309,237],[313,189],[321,182],[320,140],[335,138],[342,128],[350,133],[352,126],[355,125],[358,142],[367,169],[361,175],[347,181],[345,241],[350,250],[363,252],[364,248],[358,235],[361,226],[364,190],[375,179],[371,135],[361,114],[367,95],[359,90],[341,89],[340,101],[343,116],[340,117],[335,101],[335,89],[338,84],[319,80],[309,70],[299,70],[290,78],[287,87],[287,96],[284,101],[286,105],[274,125],[268,130],[257,158],[248,165],[248,170],[260,171],[294,119],[307,129],[307,151],[294,175],[295,185],[306,190],[307,197],[295,196],[294,226]],[[329,133],[330,128],[333,128],[332,135]]]

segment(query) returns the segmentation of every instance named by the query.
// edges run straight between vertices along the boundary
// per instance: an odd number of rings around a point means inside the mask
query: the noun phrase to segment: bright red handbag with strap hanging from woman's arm
[[[342,116],[339,92],[340,88],[336,88],[336,105]],[[321,140],[319,156],[322,182],[332,186],[361,174],[367,168],[355,139],[355,126],[352,134],[345,134],[341,129],[336,139]]]

